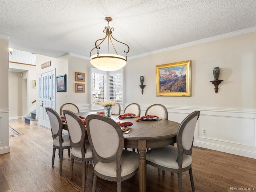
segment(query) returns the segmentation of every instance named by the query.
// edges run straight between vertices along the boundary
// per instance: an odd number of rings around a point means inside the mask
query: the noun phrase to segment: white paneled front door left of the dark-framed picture
[[[55,69],[38,75],[38,124],[47,128],[50,122],[45,108],[56,108],[55,81]]]

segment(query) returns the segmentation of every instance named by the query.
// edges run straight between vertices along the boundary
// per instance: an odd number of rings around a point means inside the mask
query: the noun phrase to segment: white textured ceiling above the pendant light
[[[255,27],[256,0],[1,0],[0,34],[17,50],[90,58],[106,16],[129,58]]]

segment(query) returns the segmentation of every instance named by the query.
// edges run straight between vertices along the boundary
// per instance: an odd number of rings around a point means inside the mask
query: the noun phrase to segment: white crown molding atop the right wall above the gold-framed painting
[[[180,44],[180,45],[176,45],[176,46],[172,46],[172,47],[168,47],[168,48],[164,48],[164,49],[155,50],[152,52],[147,52],[147,53],[131,56],[131,57],[129,57],[129,59],[140,58],[140,57],[144,57],[144,56],[149,56],[149,55],[153,55],[153,54],[158,54],[158,53],[162,53],[162,52],[185,48],[185,47],[189,47],[189,46],[193,46],[193,45],[216,41],[216,40],[229,38],[229,37],[233,37],[233,36],[238,36],[238,35],[251,33],[251,32],[255,32],[255,31],[256,31],[256,27],[251,27],[251,28],[242,29],[242,30],[238,30],[238,31],[234,31],[234,32],[230,32],[230,33],[226,33],[226,34],[222,34],[222,35],[217,35],[217,36],[213,36],[213,37],[209,37],[209,38],[205,38],[205,39],[201,39],[201,40],[196,40],[196,41],[192,41],[192,42],[188,42],[188,43],[184,43],[184,44]]]

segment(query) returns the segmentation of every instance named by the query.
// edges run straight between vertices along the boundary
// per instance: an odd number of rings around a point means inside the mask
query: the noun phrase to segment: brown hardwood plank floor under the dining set
[[[47,128],[29,125],[21,119],[9,125],[20,133],[10,137],[11,152],[0,155],[0,192],[79,192],[82,189],[82,164],[74,162],[69,180],[70,157],[64,150],[62,175],[56,152],[52,167],[52,135]],[[194,148],[192,170],[197,192],[227,192],[230,187],[254,188],[256,159],[214,150]],[[92,164],[86,167],[86,192],[92,191]],[[183,192],[192,192],[188,171],[182,175]],[[122,182],[122,192],[138,192],[138,174]],[[98,178],[97,192],[114,192],[116,183]],[[178,192],[177,174],[158,175],[157,168],[147,166],[147,192]],[[246,191],[236,190],[236,191]],[[253,191],[253,190],[247,190]]]

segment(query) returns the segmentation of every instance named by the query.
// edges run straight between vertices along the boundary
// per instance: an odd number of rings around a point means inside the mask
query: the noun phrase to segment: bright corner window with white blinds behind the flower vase
[[[91,110],[102,109],[105,100],[123,102],[123,69],[102,71],[91,68]]]

